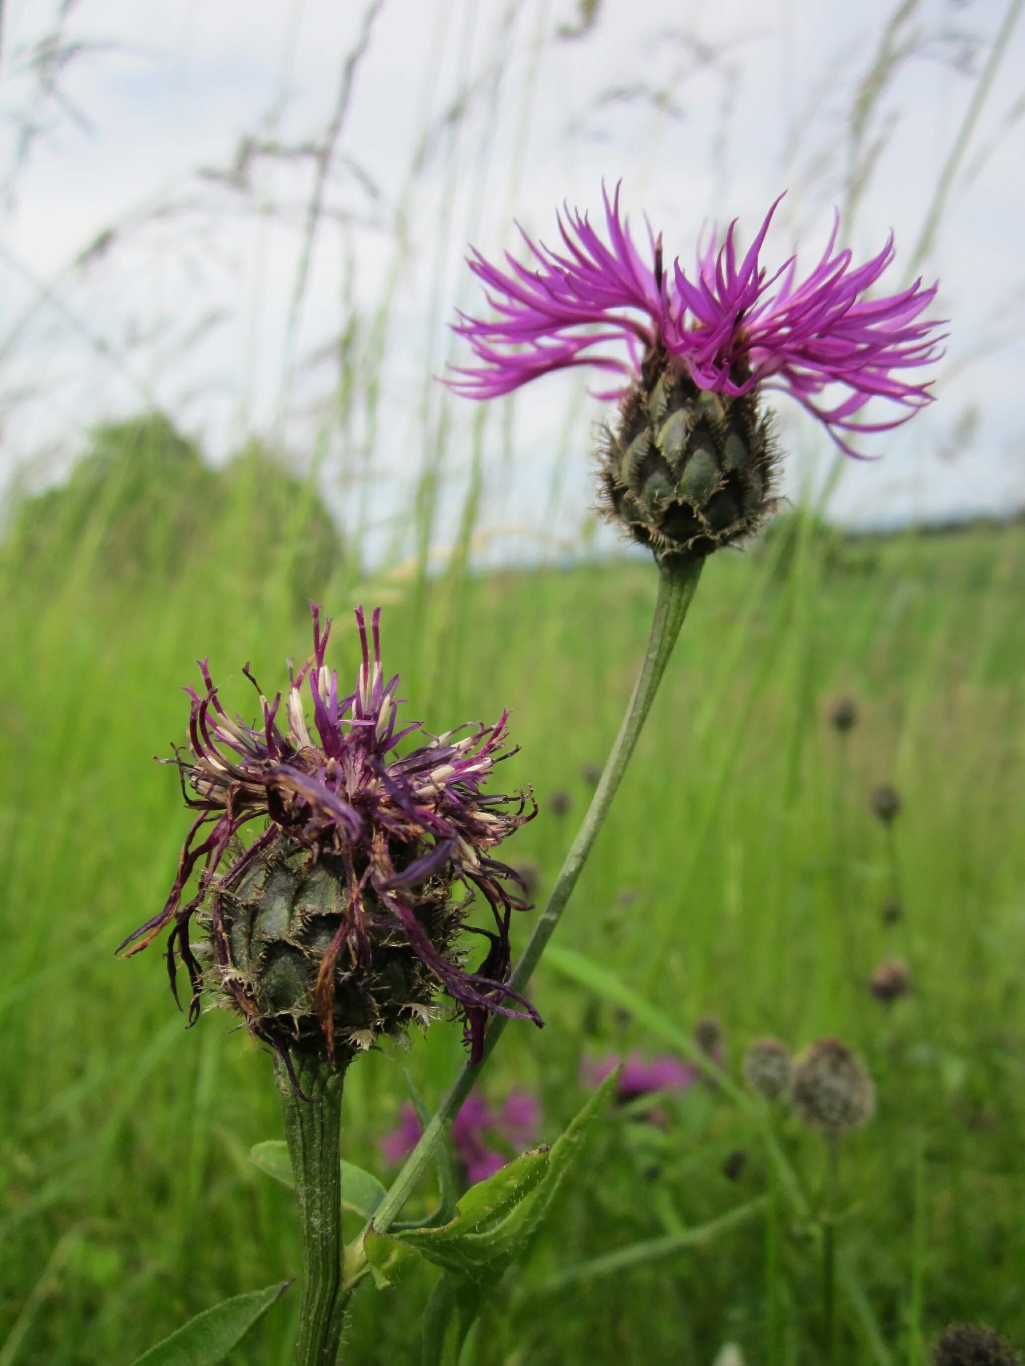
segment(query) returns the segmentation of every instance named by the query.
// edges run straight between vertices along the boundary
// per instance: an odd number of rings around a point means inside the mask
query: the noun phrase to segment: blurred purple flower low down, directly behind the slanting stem
[[[487,1180],[508,1161],[508,1154],[489,1147],[489,1142],[497,1141],[512,1153],[523,1152],[537,1138],[540,1120],[537,1098],[530,1091],[511,1090],[499,1108],[472,1091],[452,1120],[452,1146],[467,1183],[476,1186]],[[417,1112],[406,1101],[398,1127],[380,1141],[385,1162],[390,1167],[403,1162],[422,1132]]]

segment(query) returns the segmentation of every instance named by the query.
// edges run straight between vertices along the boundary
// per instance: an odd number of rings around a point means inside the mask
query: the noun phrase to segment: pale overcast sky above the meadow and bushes
[[[8,0],[3,471],[31,460],[53,475],[90,423],[160,404],[215,459],[250,432],[298,459],[323,448],[350,519],[370,459],[361,505],[384,527],[443,422],[444,540],[474,414],[428,377],[450,354],[454,305],[476,301],[467,239],[512,246],[514,217],[551,238],[560,201],[594,209],[603,179],[622,179],[634,219],[646,213],[687,264],[702,227],[739,217],[749,238],[789,189],[767,260],[794,246],[813,260],[836,205],[858,255],[894,229],[897,285],[1007,14],[989,0],[593,8]],[[347,66],[309,236],[313,153]],[[1022,100],[1025,25],[924,265],[951,320],[938,402],[871,447],[880,462],[845,470],[834,511],[849,520],[1025,504]],[[374,434],[364,389],[385,295]],[[339,406],[343,336],[357,392]],[[779,407],[793,488],[828,441]],[[577,376],[523,392],[511,425],[491,415],[485,520],[575,537],[597,417]]]

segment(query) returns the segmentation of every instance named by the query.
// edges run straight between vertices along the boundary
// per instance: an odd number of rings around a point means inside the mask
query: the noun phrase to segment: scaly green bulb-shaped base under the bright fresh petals
[[[599,462],[604,515],[660,561],[741,541],[775,505],[776,451],[757,387],[737,398],[700,389],[661,347],[645,357]]]

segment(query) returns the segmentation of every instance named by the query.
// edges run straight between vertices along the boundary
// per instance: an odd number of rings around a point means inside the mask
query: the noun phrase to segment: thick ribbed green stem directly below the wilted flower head
[[[302,1305],[295,1366],[336,1366],[348,1296],[342,1291],[342,1082],[320,1059],[294,1055],[301,1100],[280,1059],[275,1079],[295,1177]]]

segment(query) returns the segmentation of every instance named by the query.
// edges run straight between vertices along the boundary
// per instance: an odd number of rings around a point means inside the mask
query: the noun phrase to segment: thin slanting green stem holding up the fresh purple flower
[[[648,649],[640,676],[627,705],[623,723],[619,727],[619,735],[616,735],[615,744],[608,755],[599,785],[594,790],[594,796],[588,807],[588,814],[584,817],[584,824],[577,833],[577,839],[573,841],[570,852],[566,855],[566,862],[555,880],[551,896],[537,918],[534,930],[523,949],[523,956],[517,963],[510,978],[508,985],[511,990],[522,992],[530,981],[538,959],[544,953],[548,940],[552,937],[555,926],[559,923],[559,918],[566,908],[566,903],[577,885],[577,878],[608,816],[608,809],[623,779],[626,765],[630,762],[630,755],[637,747],[637,739],[655,701],[655,694],[666,672],[672,646],[676,643],[683,617],[687,615],[687,608],[694,597],[700,575],[700,560],[694,564],[659,567],[659,594],[655,602],[655,620],[652,622],[652,631],[648,638]],[[395,1177],[391,1190],[379,1205],[373,1218],[377,1232],[383,1233],[398,1217],[413,1187],[430,1161],[432,1153],[444,1138],[448,1124],[458,1115],[459,1106],[470,1094],[477,1078],[487,1065],[495,1045],[504,1033],[506,1024],[507,1018],[496,1015],[484,1040],[484,1057],[476,1067],[461,1068],[448,1094],[424,1130],[422,1138],[407,1158],[406,1165]]]

